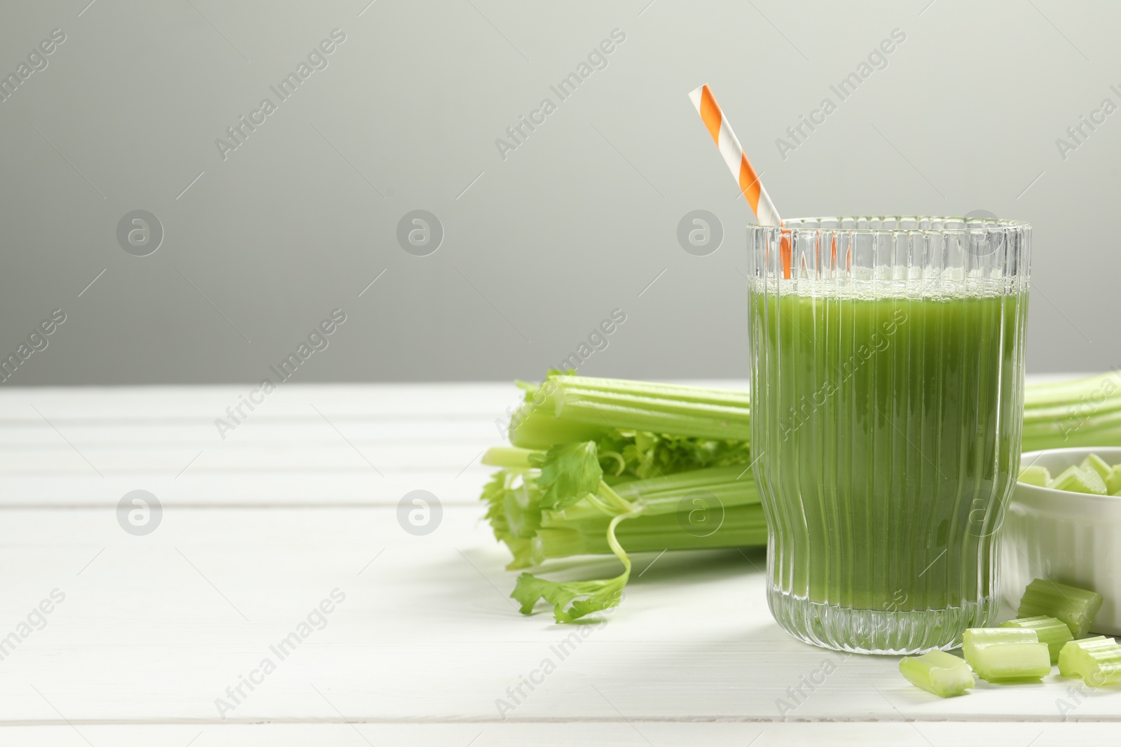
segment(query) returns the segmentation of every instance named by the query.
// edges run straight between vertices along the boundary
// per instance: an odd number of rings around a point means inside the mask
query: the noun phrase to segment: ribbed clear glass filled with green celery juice
[[[795,636],[909,654],[995,614],[1030,236],[949,217],[749,227],[768,603]]]

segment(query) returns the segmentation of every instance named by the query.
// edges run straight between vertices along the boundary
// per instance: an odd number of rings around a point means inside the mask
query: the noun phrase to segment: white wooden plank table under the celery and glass
[[[222,440],[250,389],[0,390],[0,745],[1118,744],[1119,690],[939,700],[893,657],[794,641],[760,552],[637,557],[562,659],[581,628],[516,611],[480,522],[512,386],[286,384]],[[147,535],[118,523],[135,489],[163,505]],[[414,489],[443,508],[423,536],[397,520]]]

